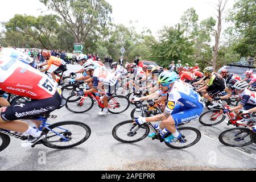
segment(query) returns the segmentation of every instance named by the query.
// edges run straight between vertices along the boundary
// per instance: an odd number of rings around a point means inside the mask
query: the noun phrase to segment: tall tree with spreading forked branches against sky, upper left
[[[40,0],[63,18],[76,43],[101,31],[110,20],[112,6],[105,0]]]

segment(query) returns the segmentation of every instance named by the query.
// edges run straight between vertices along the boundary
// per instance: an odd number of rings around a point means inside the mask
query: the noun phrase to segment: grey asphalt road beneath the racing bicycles
[[[79,65],[68,65],[68,72]],[[1,152],[1,170],[169,170],[169,169],[256,169],[256,145],[242,148],[227,147],[218,135],[230,127],[224,122],[214,127],[202,126],[198,119],[188,123],[202,133],[200,141],[190,148],[174,150],[164,143],[146,138],[134,144],[120,143],[112,137],[112,129],[130,119],[134,106],[123,114],[98,115],[100,108],[84,114],[73,114],[65,107],[52,114],[49,121],[80,121],[92,130],[90,138],[68,150],[53,150],[42,145],[24,149],[21,140],[11,138],[10,146]]]

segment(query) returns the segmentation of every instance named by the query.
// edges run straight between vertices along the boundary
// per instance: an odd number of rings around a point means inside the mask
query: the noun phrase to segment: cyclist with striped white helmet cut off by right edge
[[[238,81],[236,84],[234,84],[234,90],[231,94],[228,94],[223,97],[217,97],[215,100],[220,100],[220,99],[225,99],[229,98],[232,95],[238,94],[238,96],[241,98],[241,101],[238,106],[230,108],[230,109],[224,109],[223,113],[228,113],[231,111],[234,111],[236,113],[236,118],[241,117],[240,114],[238,114],[238,111],[240,109],[242,110],[249,110],[253,109],[256,107],[256,97],[255,97],[255,92],[252,92],[247,89],[248,83],[246,81]],[[245,121],[241,119],[240,121],[237,121],[237,123],[244,123]]]

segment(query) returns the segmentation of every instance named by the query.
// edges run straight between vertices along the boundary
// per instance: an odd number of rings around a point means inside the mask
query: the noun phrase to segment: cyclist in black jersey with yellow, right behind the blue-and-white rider
[[[218,75],[217,73],[213,73],[212,67],[207,67],[204,69],[205,78],[202,80],[207,80],[206,85],[202,86],[201,88],[197,89],[196,92],[202,92],[204,98],[207,98],[208,107],[215,107],[217,106],[217,102],[213,101],[213,97],[216,96],[218,93],[224,91],[226,88],[225,81]],[[198,81],[200,82],[200,80]]]

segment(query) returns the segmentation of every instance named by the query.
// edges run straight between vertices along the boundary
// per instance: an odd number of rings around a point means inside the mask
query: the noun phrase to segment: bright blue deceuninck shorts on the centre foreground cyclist
[[[204,110],[204,105],[198,107],[183,107],[180,104],[176,104],[174,110],[171,113],[172,118],[174,118],[175,125],[178,126],[181,123],[187,123],[192,119],[200,117]]]

